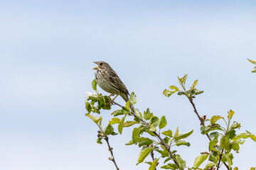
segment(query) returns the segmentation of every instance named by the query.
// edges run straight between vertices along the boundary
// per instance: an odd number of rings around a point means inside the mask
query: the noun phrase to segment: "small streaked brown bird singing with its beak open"
[[[124,98],[124,101],[129,101],[129,91],[121,79],[118,77],[117,73],[110,67],[110,64],[107,62],[94,62],[97,64],[95,72],[95,80],[101,89],[110,93],[110,96],[117,94]],[[111,101],[114,101],[115,96]],[[132,107],[133,108],[133,107]]]

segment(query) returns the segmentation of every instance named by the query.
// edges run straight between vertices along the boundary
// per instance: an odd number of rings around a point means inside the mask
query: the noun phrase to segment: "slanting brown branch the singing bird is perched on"
[[[119,103],[113,101],[113,103],[121,108],[123,108],[124,106],[120,105]],[[132,116],[134,116],[135,118],[139,118],[139,116],[135,115],[135,113],[133,111],[130,111],[130,113],[132,114]],[[144,120],[142,120],[142,118],[139,118],[139,120],[141,120],[143,125],[146,125],[147,127],[149,127],[150,125],[148,123],[146,123]],[[160,144],[163,145],[169,152],[171,159],[173,159],[174,163],[178,166],[178,168],[180,167],[178,162],[176,161],[176,159],[174,158],[174,154],[171,153],[171,149],[168,147],[168,145],[166,145],[166,143],[164,142],[164,140],[161,138],[161,136],[157,133],[154,132],[154,135],[156,135],[157,138],[159,138],[160,140]]]

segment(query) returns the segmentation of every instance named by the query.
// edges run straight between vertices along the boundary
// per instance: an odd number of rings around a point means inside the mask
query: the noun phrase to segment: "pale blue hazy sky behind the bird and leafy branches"
[[[0,1],[0,169],[114,169],[107,145],[96,143],[97,125],[85,117],[95,61],[108,62],[135,92],[139,111],[166,115],[173,131],[194,130],[191,147],[174,148],[190,167],[208,150],[208,139],[185,97],[162,94],[178,86],[177,76],[188,74],[188,85],[198,79],[199,114],[232,109],[239,132],[256,134],[256,74],[247,61],[256,60],[255,7],[255,1]],[[102,111],[104,125],[117,108]],[[136,166],[139,147],[124,145],[131,130],[110,137],[117,165],[148,169]],[[247,139],[233,164],[256,166],[255,150]]]

